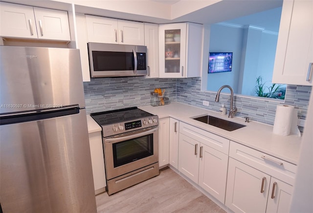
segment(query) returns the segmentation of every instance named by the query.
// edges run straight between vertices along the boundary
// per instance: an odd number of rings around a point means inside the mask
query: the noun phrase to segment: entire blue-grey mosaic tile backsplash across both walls
[[[229,109],[229,94],[222,91],[220,102],[215,102],[216,93],[201,91],[201,78],[144,78],[144,77],[109,77],[91,78],[84,82],[87,113],[121,109],[133,106],[150,105],[150,93],[155,88],[165,89],[165,95],[170,102],[197,106],[213,111],[219,111],[224,103]],[[306,118],[311,86],[288,85],[285,101],[270,98],[254,98],[250,96],[235,96],[237,117],[250,117],[270,125],[274,124],[277,104],[289,104],[298,109],[298,117]],[[203,106],[203,100],[209,101],[209,106]],[[299,128],[303,131],[303,128]]]

